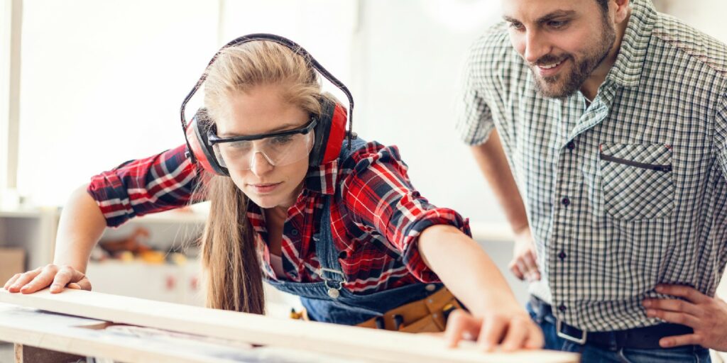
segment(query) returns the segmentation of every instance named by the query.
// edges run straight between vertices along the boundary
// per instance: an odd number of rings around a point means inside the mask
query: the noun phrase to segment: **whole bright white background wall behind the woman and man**
[[[668,3],[727,41],[726,1]],[[354,129],[398,145],[422,195],[473,221],[505,221],[454,132],[465,52],[499,20],[499,1],[23,4],[18,187],[36,204],[63,204],[90,175],[180,144],[178,107],[218,46],[271,32],[305,46],[350,87]]]

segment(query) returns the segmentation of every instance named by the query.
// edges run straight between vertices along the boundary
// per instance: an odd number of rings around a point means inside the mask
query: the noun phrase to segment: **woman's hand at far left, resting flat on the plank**
[[[64,287],[91,290],[91,282],[85,274],[71,266],[49,264],[45,267],[16,274],[5,282],[5,290],[10,293],[35,293],[50,286],[51,293],[60,293]]]

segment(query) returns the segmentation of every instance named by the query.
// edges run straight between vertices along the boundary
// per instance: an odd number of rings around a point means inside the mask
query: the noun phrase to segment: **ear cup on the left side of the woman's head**
[[[194,114],[194,118],[185,129],[185,136],[188,142],[188,152],[192,154],[192,160],[196,160],[204,170],[215,175],[228,176],[228,169],[217,163],[214,157],[214,149],[207,142],[207,127],[212,122],[207,110],[201,107]]]

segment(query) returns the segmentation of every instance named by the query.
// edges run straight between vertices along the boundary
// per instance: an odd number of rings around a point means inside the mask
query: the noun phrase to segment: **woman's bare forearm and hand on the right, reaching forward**
[[[502,343],[506,351],[541,348],[544,340],[485,251],[456,227],[434,225],[419,235],[419,253],[454,296],[470,310],[451,315],[447,336],[454,345],[463,335],[483,349]]]

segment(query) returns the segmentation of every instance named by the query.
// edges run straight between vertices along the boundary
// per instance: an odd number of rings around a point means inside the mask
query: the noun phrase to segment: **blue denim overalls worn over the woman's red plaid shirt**
[[[366,142],[354,139],[351,150],[348,142],[344,142],[338,160],[348,156]],[[337,188],[340,192],[340,188]],[[345,275],[338,262],[339,251],[336,250],[331,234],[331,203],[335,195],[324,196],[324,213],[321,216],[321,227],[313,235],[316,255],[321,262],[318,274],[323,282],[286,282],[267,279],[273,287],[286,293],[300,296],[302,305],[308,311],[308,317],[317,322],[331,322],[343,325],[356,325],[372,317],[381,316],[386,311],[412,301],[422,300],[439,290],[443,285],[416,283],[396,287],[378,293],[354,294],[343,288]]]

